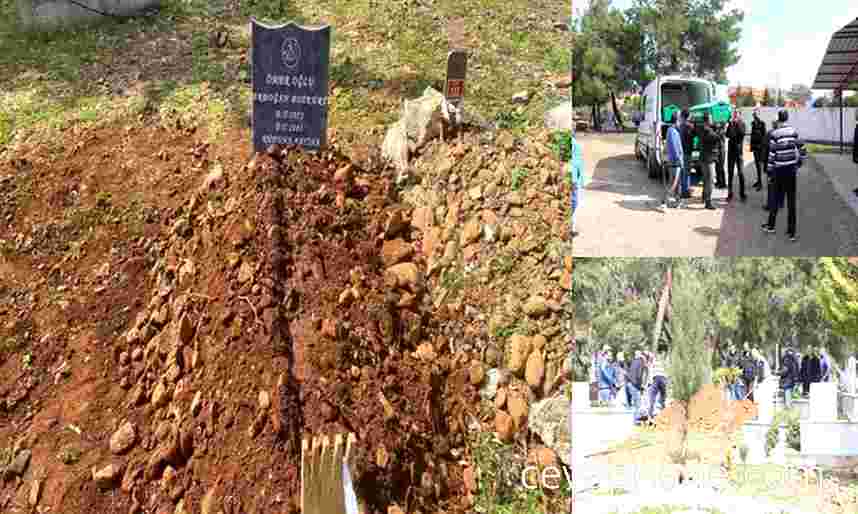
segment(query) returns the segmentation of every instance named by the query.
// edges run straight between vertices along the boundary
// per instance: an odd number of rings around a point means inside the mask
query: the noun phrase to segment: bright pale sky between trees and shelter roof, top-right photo
[[[588,3],[572,0],[576,12]],[[633,1],[612,3],[624,9]],[[732,0],[730,4],[745,13],[740,61],[727,70],[731,86],[812,85],[831,35],[858,18],[856,0]],[[822,93],[814,91],[814,96]]]

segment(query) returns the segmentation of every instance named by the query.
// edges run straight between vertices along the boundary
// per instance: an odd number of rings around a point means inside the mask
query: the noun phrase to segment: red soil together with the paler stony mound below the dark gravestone
[[[469,508],[474,432],[556,461],[565,186],[528,144],[430,145],[445,185],[402,192],[180,127],[4,162],[0,510],[294,512],[301,437],[345,431],[369,512]]]

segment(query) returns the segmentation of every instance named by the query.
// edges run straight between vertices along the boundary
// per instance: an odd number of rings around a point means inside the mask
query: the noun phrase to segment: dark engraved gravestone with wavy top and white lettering
[[[324,148],[328,132],[331,28],[250,20],[253,149]]]

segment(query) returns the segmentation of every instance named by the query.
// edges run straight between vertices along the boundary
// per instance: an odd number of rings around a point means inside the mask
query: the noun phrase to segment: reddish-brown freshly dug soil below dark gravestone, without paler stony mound
[[[0,510],[37,478],[55,512],[295,512],[301,438],[346,431],[369,512],[462,508],[477,388],[425,262],[385,264],[385,240],[412,243],[390,177],[335,151],[251,157],[103,130],[0,170],[0,339],[31,359],[0,359],[0,442],[32,451]],[[111,463],[113,494],[93,480]]]

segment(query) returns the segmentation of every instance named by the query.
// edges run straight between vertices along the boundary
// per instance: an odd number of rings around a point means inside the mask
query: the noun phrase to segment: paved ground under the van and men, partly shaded
[[[726,190],[713,191],[717,210],[703,208],[701,189],[686,209],[659,208],[663,189],[634,157],[634,134],[579,134],[592,180],[576,214],[573,252],[581,257],[833,256],[858,255],[858,216],[811,159],[798,183],[798,236],[786,236],[786,211],[777,233],[760,230],[765,189],[748,188],[746,203],[727,204]],[[756,180],[745,154],[747,185]],[[737,195],[738,196],[738,195]]]

